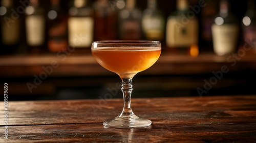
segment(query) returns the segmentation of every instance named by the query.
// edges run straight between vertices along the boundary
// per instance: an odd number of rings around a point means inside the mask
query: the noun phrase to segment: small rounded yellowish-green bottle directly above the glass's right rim
[[[147,1],[147,9],[142,14],[142,30],[146,40],[162,41],[164,37],[164,16],[157,9],[156,0]]]

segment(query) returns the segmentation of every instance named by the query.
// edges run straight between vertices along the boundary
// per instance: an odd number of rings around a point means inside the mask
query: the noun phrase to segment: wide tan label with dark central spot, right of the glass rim
[[[198,44],[198,21],[180,17],[169,18],[166,25],[166,45],[168,47],[190,47]]]

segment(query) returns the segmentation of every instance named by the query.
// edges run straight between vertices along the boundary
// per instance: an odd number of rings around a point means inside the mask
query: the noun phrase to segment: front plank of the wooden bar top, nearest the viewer
[[[0,127],[0,129],[4,129]],[[1,142],[252,142],[255,123],[209,121],[155,122],[141,129],[115,129],[102,124],[10,126]]]

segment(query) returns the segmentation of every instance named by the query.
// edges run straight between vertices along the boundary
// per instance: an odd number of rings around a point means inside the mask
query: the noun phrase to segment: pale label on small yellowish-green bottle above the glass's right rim
[[[163,38],[163,25],[161,17],[146,17],[142,19],[143,31],[147,39],[161,40]]]

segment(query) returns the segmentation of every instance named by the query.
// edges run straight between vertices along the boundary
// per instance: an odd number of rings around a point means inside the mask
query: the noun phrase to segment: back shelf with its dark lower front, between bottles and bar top
[[[157,97],[159,93],[198,95],[197,88],[203,89],[205,80],[210,82],[214,76],[212,72],[221,70],[223,66],[229,72],[223,74],[223,78],[214,83],[206,95],[255,94],[255,55],[235,60],[214,54],[189,57],[163,53],[151,68],[136,75],[133,97]],[[84,95],[83,98],[98,98],[108,87],[116,87],[121,81],[115,73],[100,66],[91,54],[66,57],[54,54],[2,56],[0,68],[1,81],[10,86],[8,92],[13,100],[24,100],[22,95],[27,95],[27,100],[58,99],[57,95],[64,89],[65,93],[66,90],[79,91]],[[35,78],[40,76],[41,82]],[[32,92],[28,83],[35,85]],[[91,92],[95,93],[95,97],[87,97]],[[72,95],[71,99],[74,98]]]

